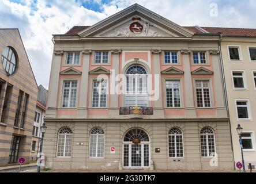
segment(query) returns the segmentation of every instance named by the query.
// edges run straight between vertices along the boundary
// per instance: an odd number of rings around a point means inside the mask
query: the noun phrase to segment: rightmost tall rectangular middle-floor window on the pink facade
[[[197,107],[210,107],[210,87],[209,81],[195,81],[195,89],[197,92]]]

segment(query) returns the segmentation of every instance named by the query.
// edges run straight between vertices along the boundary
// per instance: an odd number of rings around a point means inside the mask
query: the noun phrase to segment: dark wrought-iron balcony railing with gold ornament
[[[119,114],[120,115],[129,115],[129,114],[153,115],[153,108],[142,107],[142,106],[121,107],[119,110]]]

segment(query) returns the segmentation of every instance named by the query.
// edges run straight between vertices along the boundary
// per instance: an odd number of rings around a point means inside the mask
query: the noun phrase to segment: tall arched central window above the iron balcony
[[[140,65],[126,71],[125,106],[148,106],[147,75]]]

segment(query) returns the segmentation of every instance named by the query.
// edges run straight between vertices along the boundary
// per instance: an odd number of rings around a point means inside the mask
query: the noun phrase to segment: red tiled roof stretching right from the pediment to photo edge
[[[194,33],[203,33],[195,26],[185,26],[184,28],[189,29]],[[209,33],[221,33],[223,36],[245,36],[245,37],[256,37],[256,29],[249,28],[214,28],[214,27],[200,27],[205,29]]]

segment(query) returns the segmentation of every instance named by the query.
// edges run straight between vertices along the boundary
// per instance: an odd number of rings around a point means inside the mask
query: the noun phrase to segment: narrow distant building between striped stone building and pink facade
[[[37,154],[40,150],[40,141],[42,139],[42,127],[44,117],[46,115],[46,102],[47,102],[48,91],[42,86],[38,86],[36,111],[34,117],[33,131],[32,131],[32,143],[31,143],[31,155],[30,160],[37,160]]]

